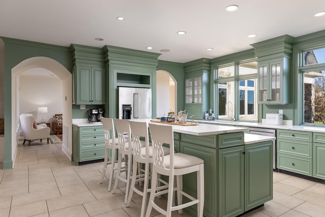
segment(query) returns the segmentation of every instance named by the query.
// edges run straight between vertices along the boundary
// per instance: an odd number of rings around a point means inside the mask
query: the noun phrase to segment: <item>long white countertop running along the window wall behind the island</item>
[[[267,125],[266,123],[244,122],[244,121],[226,121],[226,120],[196,120],[204,123],[215,123],[218,125],[235,125],[239,127],[255,127],[268,129],[282,129],[282,130],[297,130],[325,133],[325,128],[312,126],[295,126],[295,125]]]

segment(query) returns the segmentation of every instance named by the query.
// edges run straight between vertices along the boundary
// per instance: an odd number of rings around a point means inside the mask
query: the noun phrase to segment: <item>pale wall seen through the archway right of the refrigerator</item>
[[[157,117],[167,115],[170,110],[169,75],[157,71]]]

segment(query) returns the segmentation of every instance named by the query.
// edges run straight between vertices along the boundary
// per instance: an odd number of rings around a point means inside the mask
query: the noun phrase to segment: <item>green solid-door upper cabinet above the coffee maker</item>
[[[75,44],[71,48],[74,51],[73,104],[105,104],[105,64],[102,49]]]

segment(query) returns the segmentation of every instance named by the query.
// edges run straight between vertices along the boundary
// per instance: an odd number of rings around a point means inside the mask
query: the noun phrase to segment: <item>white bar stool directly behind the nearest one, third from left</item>
[[[142,206],[141,206],[141,214],[140,216],[143,217],[145,215],[146,210],[146,204],[147,204],[147,193],[150,192],[150,189],[148,188],[149,185],[149,178],[150,175],[150,167],[152,170],[152,146],[151,143],[149,143],[149,136],[148,136],[148,125],[147,122],[138,122],[138,121],[129,121],[129,125],[131,128],[131,134],[133,139],[133,171],[132,171],[132,182],[131,182],[131,189],[128,195],[126,207],[129,206],[133,192],[136,192],[137,194],[142,196]],[[145,146],[143,147],[143,140],[140,140],[140,138],[144,138]],[[165,154],[169,154],[170,149],[168,147],[163,146],[162,147]],[[137,175],[137,169],[138,165],[141,164],[144,166],[144,173]],[[144,181],[144,187],[143,191],[136,188],[136,182],[138,181]],[[163,182],[165,185],[160,186],[158,189],[166,189],[167,188],[167,182],[159,179],[158,181]]]

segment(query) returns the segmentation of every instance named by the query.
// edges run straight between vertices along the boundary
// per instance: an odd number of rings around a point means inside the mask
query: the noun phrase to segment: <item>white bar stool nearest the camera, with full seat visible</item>
[[[170,144],[170,148],[174,149],[174,134],[172,126],[156,125],[149,123],[151,142],[153,147],[153,170],[152,170],[152,186],[150,191],[149,204],[146,217],[150,216],[152,207],[158,212],[171,216],[172,211],[178,210],[179,214],[182,209],[193,204],[198,204],[198,216],[203,216],[204,207],[204,161],[200,158],[190,156],[184,153],[174,153],[171,151],[169,155],[164,156],[162,145]],[[197,199],[183,192],[182,175],[191,172],[197,172]],[[156,192],[157,174],[169,176],[168,190]],[[176,176],[177,206],[173,206],[172,198],[174,194],[174,176]],[[160,208],[154,198],[161,194],[168,193],[167,209]],[[185,196],[190,201],[182,203],[182,197]]]

